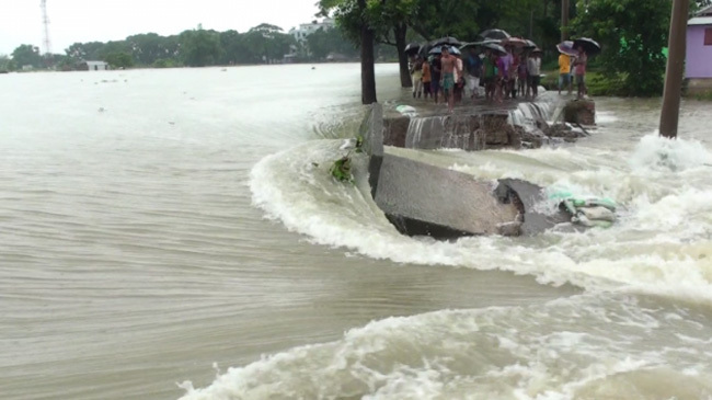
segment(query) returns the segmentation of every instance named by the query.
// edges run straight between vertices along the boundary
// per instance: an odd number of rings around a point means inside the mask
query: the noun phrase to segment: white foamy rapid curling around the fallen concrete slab
[[[632,153],[570,147],[484,152],[486,162],[476,153],[460,155],[451,168],[476,179],[520,178],[550,193],[611,197],[621,205],[621,218],[607,230],[457,242],[401,236],[374,204],[364,175],[356,186],[334,182],[328,169],[344,152],[340,145],[308,142],[263,159],[251,176],[254,204],[315,243],[376,259],[512,271],[589,290],[712,300],[712,185],[705,165],[712,155],[698,142],[646,136]],[[356,170],[364,171],[360,157]]]

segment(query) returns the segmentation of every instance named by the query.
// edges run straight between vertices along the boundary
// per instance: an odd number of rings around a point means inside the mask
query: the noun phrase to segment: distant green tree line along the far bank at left
[[[395,58],[394,49],[382,48],[381,58]],[[103,60],[113,68],[131,67],[205,67],[282,62],[286,54],[298,61],[320,61],[330,54],[356,59],[358,50],[338,30],[323,28],[298,42],[292,35],[271,24],[248,32],[217,32],[198,25],[177,35],[146,33],[124,41],[74,43],[65,54],[42,55],[37,46],[21,45],[11,57],[0,56],[0,70],[73,69],[82,60]]]

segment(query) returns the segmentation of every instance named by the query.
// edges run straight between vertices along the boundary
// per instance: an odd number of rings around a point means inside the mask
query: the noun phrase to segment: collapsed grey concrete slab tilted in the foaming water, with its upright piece
[[[466,173],[387,153],[383,145],[392,145],[389,140],[393,136],[387,136],[394,130],[392,121],[383,122],[379,104],[371,106],[360,132],[363,149],[370,157],[371,195],[403,235],[435,239],[530,236],[569,221],[563,213],[537,212],[536,205],[544,201],[543,190],[529,182],[501,180],[493,185]]]

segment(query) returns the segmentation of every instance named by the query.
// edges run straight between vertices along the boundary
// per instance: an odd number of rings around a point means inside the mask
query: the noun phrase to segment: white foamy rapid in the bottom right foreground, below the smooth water
[[[183,399],[709,399],[709,322],[625,296],[390,318]]]

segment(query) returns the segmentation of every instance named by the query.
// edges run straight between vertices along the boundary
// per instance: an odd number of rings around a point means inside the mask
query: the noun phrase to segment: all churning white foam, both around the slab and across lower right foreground
[[[364,156],[355,157],[355,185],[332,180],[340,146],[308,142],[263,159],[250,181],[254,204],[314,243],[398,263],[529,274],[585,293],[375,321],[230,368],[203,389],[181,384],[184,399],[712,399],[712,153],[702,144],[651,135],[632,150],[389,149],[478,180],[519,178],[552,196],[621,206],[610,229],[457,242],[400,235],[370,197]],[[658,301],[665,296],[674,301]]]

